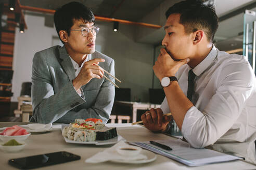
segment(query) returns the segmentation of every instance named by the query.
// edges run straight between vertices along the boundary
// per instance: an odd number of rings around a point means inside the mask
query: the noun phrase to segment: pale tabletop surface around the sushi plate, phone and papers
[[[26,124],[21,122],[0,122],[0,127],[4,126],[12,126],[14,124]],[[145,129],[145,127],[135,125],[131,126],[130,123],[123,124],[109,124],[111,126],[117,126],[118,134],[123,136],[126,141],[147,141],[147,140],[158,140],[158,139],[168,139],[170,136],[160,134],[160,133],[152,133]],[[103,151],[113,145],[107,146],[95,146],[95,145],[76,145],[76,144],[68,144],[65,142],[63,137],[61,136],[60,129],[54,129],[49,133],[41,133],[41,134],[32,134],[25,141],[27,146],[17,153],[7,153],[0,151],[0,169],[17,169],[8,165],[8,160],[12,158],[20,158],[27,157],[35,154],[43,154],[49,152],[57,152],[57,151],[68,151],[71,153],[75,153],[81,156],[81,160],[72,161],[68,163],[62,163],[58,165],[45,166],[38,169],[139,169],[139,170],[148,170],[148,169],[256,169],[255,165],[246,163],[244,161],[233,161],[233,162],[225,162],[225,163],[217,163],[211,165],[204,165],[198,167],[188,167],[181,163],[178,163],[169,158],[163,157],[162,155],[157,155],[157,159],[150,163],[145,164],[122,164],[122,163],[113,163],[113,162],[104,162],[98,164],[85,163],[84,161],[91,157],[92,155]]]

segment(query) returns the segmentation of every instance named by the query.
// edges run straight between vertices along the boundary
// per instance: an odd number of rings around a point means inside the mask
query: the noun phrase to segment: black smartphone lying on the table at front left
[[[42,166],[55,165],[75,160],[80,160],[79,155],[66,151],[33,155],[30,157],[10,159],[8,163],[20,169],[32,169]]]

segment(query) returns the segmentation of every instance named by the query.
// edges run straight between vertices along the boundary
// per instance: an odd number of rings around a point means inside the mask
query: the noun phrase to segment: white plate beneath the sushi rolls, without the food
[[[63,128],[69,126],[69,124],[62,124],[61,125],[61,131],[63,132]],[[63,136],[63,138],[65,139],[66,143],[71,143],[71,144],[93,144],[93,145],[111,145],[111,144],[116,144],[118,143],[118,141],[120,140],[124,140],[125,139],[120,136],[117,135],[114,138],[108,139],[108,140],[94,140],[94,141],[75,141],[75,140],[71,140],[68,137]]]

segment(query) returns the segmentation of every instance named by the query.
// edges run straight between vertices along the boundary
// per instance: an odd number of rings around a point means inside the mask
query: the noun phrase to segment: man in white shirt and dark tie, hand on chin
[[[167,132],[170,117],[163,114],[171,112],[191,146],[208,146],[256,163],[256,80],[249,62],[214,47],[218,24],[211,5],[182,1],[165,15],[165,48],[153,70],[166,97],[161,108],[142,115],[143,124]],[[193,74],[189,85],[188,75]]]

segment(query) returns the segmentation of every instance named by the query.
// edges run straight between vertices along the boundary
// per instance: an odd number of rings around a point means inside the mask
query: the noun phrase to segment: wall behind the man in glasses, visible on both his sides
[[[44,17],[25,15],[28,30],[20,34],[16,30],[14,47],[14,76],[12,78],[12,102],[20,95],[21,84],[31,81],[34,53],[53,45],[58,36],[55,28],[44,26]],[[96,50],[110,56],[116,63],[116,76],[122,80],[121,88],[131,88],[132,101],[140,98],[148,101],[148,88],[152,86],[153,45],[135,43],[136,26],[119,25],[113,32],[113,23],[96,21],[100,33],[96,38]]]

